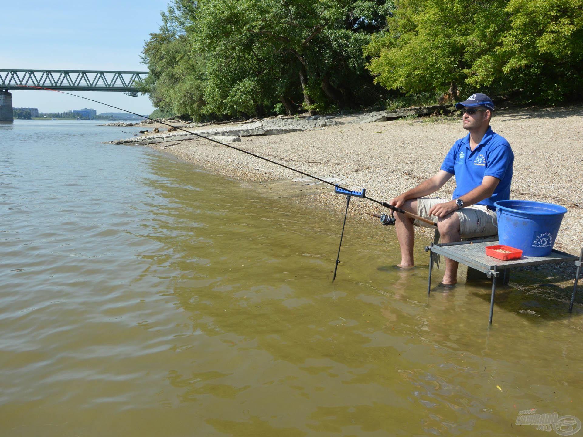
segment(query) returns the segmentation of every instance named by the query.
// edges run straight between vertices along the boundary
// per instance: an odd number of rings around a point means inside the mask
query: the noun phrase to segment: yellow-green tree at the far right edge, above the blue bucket
[[[583,96],[583,0],[510,0],[507,29],[496,55],[522,101]]]

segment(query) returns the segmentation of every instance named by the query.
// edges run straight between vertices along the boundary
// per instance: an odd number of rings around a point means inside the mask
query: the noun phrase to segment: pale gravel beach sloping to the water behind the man
[[[333,178],[346,188],[364,187],[371,198],[389,200],[434,175],[455,140],[467,133],[461,118],[366,124],[350,123],[350,116],[338,119],[345,124],[243,137],[233,145],[319,178]],[[494,113],[491,127],[514,150],[511,198],[567,207],[554,248],[579,253],[583,246],[583,107],[501,109]],[[324,209],[343,211],[346,205],[344,196],[335,195],[328,185],[308,185],[313,180],[298,180],[307,178],[208,140],[150,147],[217,174],[257,182],[252,185],[269,195],[295,194],[294,201]],[[437,195],[450,198],[454,184],[452,178]],[[363,220],[378,220],[364,212],[388,211],[368,200],[355,200],[350,213]],[[419,232],[428,231],[420,228]]]

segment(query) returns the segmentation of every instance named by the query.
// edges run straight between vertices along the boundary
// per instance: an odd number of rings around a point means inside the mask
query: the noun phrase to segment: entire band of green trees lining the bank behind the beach
[[[195,119],[327,112],[388,95],[583,93],[583,0],[173,0],[142,91]]]

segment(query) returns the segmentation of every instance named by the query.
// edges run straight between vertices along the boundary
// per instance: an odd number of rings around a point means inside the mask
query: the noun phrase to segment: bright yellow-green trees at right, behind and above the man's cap
[[[368,44],[375,83],[554,103],[583,90],[583,0],[400,0]]]

